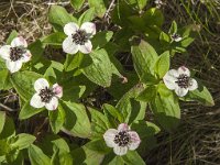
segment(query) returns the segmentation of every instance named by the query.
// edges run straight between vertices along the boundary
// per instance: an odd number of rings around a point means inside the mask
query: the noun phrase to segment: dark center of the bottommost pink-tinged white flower
[[[130,143],[131,136],[128,133],[128,131],[120,131],[116,136],[114,136],[114,143],[118,144],[119,146],[127,146]]]

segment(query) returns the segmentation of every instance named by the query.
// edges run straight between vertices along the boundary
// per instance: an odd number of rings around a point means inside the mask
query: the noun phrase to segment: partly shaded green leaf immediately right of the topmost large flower
[[[111,32],[111,31],[98,32],[91,38],[94,50],[98,50],[98,48],[103,47],[111,40],[112,35],[113,35],[113,32]]]

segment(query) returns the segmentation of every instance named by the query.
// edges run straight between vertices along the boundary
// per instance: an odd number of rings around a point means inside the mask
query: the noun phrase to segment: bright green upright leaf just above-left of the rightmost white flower
[[[163,78],[164,75],[169,69],[169,52],[166,51],[162,55],[160,55],[156,64],[155,64],[155,73],[158,75],[160,78]]]

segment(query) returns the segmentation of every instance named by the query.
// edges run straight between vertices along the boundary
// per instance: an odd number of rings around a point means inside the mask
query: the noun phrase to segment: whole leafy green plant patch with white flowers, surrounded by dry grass
[[[0,111],[0,162],[145,164],[155,134],[178,127],[179,101],[215,105],[193,68],[170,65],[198,32],[175,21],[166,31],[158,0],[154,7],[147,0],[70,3],[74,13],[51,7],[52,34],[28,44],[12,31],[0,47],[0,90],[15,90],[19,120],[50,123],[41,135],[16,133],[12,118]],[[61,56],[45,56],[48,47]]]

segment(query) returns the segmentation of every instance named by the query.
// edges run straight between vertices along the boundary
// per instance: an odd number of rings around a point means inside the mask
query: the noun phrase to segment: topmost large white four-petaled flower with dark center
[[[80,51],[88,54],[92,50],[90,38],[96,34],[96,24],[85,22],[79,28],[76,23],[70,22],[64,26],[64,33],[68,35],[63,42],[63,50],[68,54],[76,54]]]

